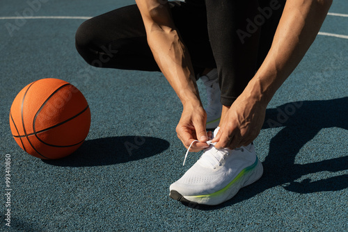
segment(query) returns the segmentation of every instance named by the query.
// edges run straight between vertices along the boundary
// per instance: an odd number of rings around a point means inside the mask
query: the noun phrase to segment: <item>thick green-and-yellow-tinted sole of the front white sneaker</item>
[[[175,199],[177,201],[181,201],[184,204],[202,204],[215,206],[223,203],[224,201],[228,201],[232,197],[235,197],[237,192],[245,187],[246,185],[250,185],[258,179],[261,178],[263,173],[262,163],[258,158],[256,158],[255,163],[253,165],[245,167],[241,172],[233,179],[228,185],[212,194],[204,194],[198,196],[182,196],[179,192],[175,190],[171,190],[169,197]]]

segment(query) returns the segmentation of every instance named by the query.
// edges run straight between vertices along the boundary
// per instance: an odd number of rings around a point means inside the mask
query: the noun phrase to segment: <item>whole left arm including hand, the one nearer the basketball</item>
[[[206,113],[200,101],[189,52],[180,38],[166,0],[136,0],[152,54],[183,105],[177,136],[185,147],[193,140],[192,151],[207,144]]]

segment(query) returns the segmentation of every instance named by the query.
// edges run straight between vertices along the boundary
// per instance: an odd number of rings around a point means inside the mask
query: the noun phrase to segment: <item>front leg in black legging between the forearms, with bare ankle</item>
[[[212,5],[215,7],[211,8]],[[221,122],[233,101],[243,92],[248,81],[253,78],[267,56],[284,6],[284,0],[230,2],[228,7],[226,3],[220,6],[216,2],[210,4],[207,0],[208,14],[211,15],[210,17],[208,15],[209,38],[212,41],[214,57],[218,65],[222,92]],[[222,9],[230,11],[230,14],[226,12],[228,17],[221,19],[213,17]],[[216,26],[219,25],[219,20],[228,20],[233,23],[227,27],[227,31],[226,29],[223,31],[223,28]],[[219,34],[219,31],[223,33]],[[222,47],[221,43],[227,46]]]

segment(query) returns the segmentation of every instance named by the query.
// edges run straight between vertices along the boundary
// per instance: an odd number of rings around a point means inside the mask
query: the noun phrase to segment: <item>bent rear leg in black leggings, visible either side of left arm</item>
[[[196,73],[214,67],[204,6],[170,2],[175,26],[192,54]],[[126,6],[87,20],[77,30],[77,51],[95,67],[160,71],[146,40],[136,5]]]

